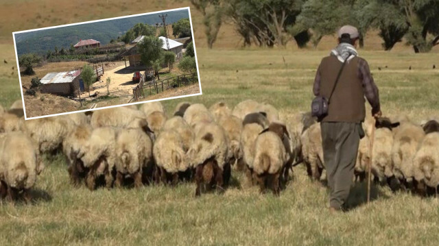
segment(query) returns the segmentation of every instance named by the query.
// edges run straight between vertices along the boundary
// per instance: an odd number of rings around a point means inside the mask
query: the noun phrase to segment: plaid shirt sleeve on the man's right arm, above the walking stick
[[[366,99],[368,99],[370,106],[372,106],[372,114],[379,112],[380,105],[378,88],[370,74],[369,64],[364,59],[359,59],[358,77],[363,83],[364,95],[366,96]]]

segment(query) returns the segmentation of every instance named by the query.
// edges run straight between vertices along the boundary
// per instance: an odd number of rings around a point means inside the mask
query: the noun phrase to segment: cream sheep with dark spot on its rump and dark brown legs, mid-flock
[[[228,164],[228,138],[224,129],[215,123],[205,123],[200,130],[195,133],[195,139],[189,151],[187,151],[186,160],[195,167],[195,182],[197,189],[195,195],[200,195],[200,188],[203,183],[210,183],[211,180],[204,180],[202,176],[203,169],[207,165],[213,165],[215,176],[215,185],[217,190],[222,191],[223,185],[228,184],[230,179],[230,165]],[[209,166],[210,167],[210,166]]]

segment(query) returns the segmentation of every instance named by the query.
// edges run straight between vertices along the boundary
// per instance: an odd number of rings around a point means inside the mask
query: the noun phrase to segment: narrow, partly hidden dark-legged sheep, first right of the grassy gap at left
[[[73,127],[73,130],[67,134],[62,142],[62,151],[66,156],[69,176],[71,183],[78,186],[86,177],[88,168],[84,167],[84,162],[80,159],[81,148],[86,145],[88,138],[91,136],[93,128],[91,125],[82,124]]]

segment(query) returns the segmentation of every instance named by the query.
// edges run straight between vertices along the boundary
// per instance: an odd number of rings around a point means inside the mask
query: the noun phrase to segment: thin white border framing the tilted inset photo
[[[25,33],[25,32],[34,32],[34,31],[40,31],[40,30],[45,30],[45,29],[54,29],[54,28],[58,28],[58,27],[69,27],[69,26],[72,26],[72,25],[82,25],[82,24],[95,23],[95,22],[100,22],[100,21],[117,20],[117,19],[123,19],[123,18],[135,17],[135,16],[143,16],[143,15],[146,15],[146,14],[158,14],[158,13],[162,13],[162,12],[176,11],[176,10],[187,10],[189,12],[189,22],[191,23],[191,34],[192,34],[193,52],[195,53],[195,64],[197,65],[198,86],[200,87],[200,93],[191,94],[191,95],[182,95],[182,96],[177,96],[177,97],[167,97],[167,98],[161,98],[161,99],[153,99],[153,100],[150,100],[150,101],[137,101],[137,102],[134,102],[134,103],[124,103],[124,104],[119,104],[119,105],[115,105],[115,106],[107,106],[107,107],[102,107],[102,108],[93,108],[93,109],[88,109],[88,110],[76,110],[76,111],[71,111],[71,112],[63,112],[63,113],[59,113],[59,114],[47,114],[47,115],[43,115],[43,116],[35,116],[35,117],[29,117],[28,118],[26,116],[25,98],[23,97],[23,86],[21,85],[21,74],[20,74],[19,75],[19,81],[20,81],[21,101],[23,102],[23,111],[24,111],[24,115],[25,115],[25,120],[46,118],[46,117],[50,117],[50,116],[58,116],[58,115],[64,115],[64,114],[75,114],[75,113],[79,113],[79,112],[88,112],[88,111],[94,111],[94,110],[102,110],[102,109],[105,109],[105,108],[117,108],[117,107],[122,107],[122,106],[127,106],[127,105],[134,105],[134,104],[140,104],[140,103],[149,103],[149,102],[152,102],[152,101],[164,101],[164,100],[169,100],[169,99],[177,99],[177,98],[182,98],[182,97],[193,97],[193,96],[202,95],[202,88],[201,88],[201,82],[200,82],[200,70],[199,70],[199,67],[198,67],[197,51],[195,49],[195,37],[193,36],[193,25],[192,25],[192,17],[191,17],[191,8],[189,8],[189,7],[174,8],[174,9],[170,9],[170,10],[161,10],[161,11],[155,11],[155,12],[149,12],[149,13],[143,13],[143,14],[132,14],[132,15],[127,15],[127,16],[119,16],[119,17],[108,18],[108,19],[100,19],[100,20],[95,20],[95,21],[84,21],[84,22],[80,22],[80,23],[71,23],[71,24],[66,24],[66,25],[56,25],[56,26],[53,26],[53,27],[42,27],[42,28],[37,28],[37,29],[29,29],[29,30],[25,30],[25,31],[12,32],[12,38],[14,39],[16,67],[20,71],[19,56],[17,55],[17,52],[16,52],[15,34],[21,34],[21,33]]]

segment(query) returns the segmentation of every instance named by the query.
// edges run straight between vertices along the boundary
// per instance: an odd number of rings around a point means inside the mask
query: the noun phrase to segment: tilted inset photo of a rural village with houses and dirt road
[[[202,95],[189,7],[12,35],[25,119]]]

